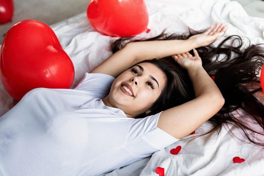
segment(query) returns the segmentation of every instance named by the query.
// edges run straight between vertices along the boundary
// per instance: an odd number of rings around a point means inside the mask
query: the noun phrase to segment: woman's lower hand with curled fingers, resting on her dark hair
[[[193,66],[202,66],[202,59],[196,49],[193,48],[194,56],[189,52],[172,55],[172,58],[184,69],[189,69]]]

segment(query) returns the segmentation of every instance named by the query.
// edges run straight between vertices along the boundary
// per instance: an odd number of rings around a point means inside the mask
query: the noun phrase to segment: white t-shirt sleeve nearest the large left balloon
[[[108,74],[86,72],[74,89],[87,91],[91,96],[102,99],[108,95],[114,79]]]

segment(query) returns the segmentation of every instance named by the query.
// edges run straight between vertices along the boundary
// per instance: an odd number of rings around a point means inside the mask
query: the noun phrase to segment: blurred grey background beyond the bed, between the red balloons
[[[19,21],[39,20],[48,25],[86,11],[91,0],[14,0],[13,21],[0,25],[0,44],[5,33]]]

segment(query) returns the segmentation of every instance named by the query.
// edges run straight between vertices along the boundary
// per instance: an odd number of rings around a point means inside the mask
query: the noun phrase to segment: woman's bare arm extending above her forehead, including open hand
[[[139,41],[130,42],[122,49],[114,53],[91,73],[105,73],[117,77],[130,66],[153,58],[163,58],[174,54],[190,51],[192,48],[206,46],[221,37],[224,26],[217,26],[212,30],[211,26],[205,33],[194,35],[187,40],[159,40],[159,41]],[[210,32],[214,31],[214,33]],[[204,36],[207,35],[205,38]]]

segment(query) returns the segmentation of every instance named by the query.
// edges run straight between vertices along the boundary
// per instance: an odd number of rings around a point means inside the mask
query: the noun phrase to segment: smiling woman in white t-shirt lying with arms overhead
[[[225,104],[198,52],[188,51],[225,30],[218,24],[186,40],[130,42],[74,90],[30,91],[0,118],[0,173],[98,175],[188,136]]]

